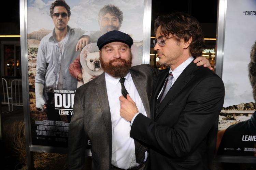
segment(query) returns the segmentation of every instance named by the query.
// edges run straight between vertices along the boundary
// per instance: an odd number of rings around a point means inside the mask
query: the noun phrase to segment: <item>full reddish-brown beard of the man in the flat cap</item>
[[[130,57],[128,60],[125,59],[114,59],[111,60],[109,62],[104,62],[102,60],[101,57],[101,53],[100,53],[100,63],[101,63],[101,67],[103,69],[104,72],[108,73],[109,75],[111,75],[112,77],[124,77],[127,75],[127,73],[129,73],[130,69],[131,69],[131,53],[130,53]],[[114,62],[120,62],[117,65],[113,65]]]

